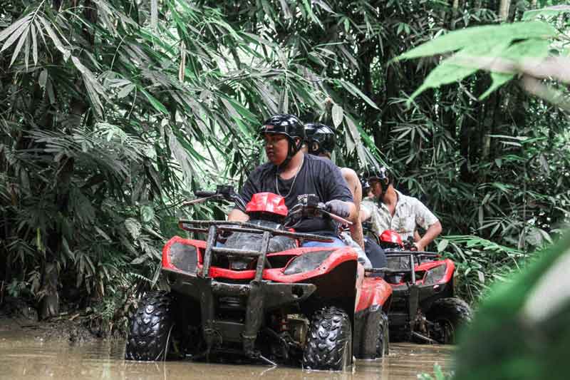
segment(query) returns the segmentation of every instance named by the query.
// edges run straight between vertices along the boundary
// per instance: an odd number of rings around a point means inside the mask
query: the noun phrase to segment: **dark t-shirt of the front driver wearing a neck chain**
[[[279,191],[277,191],[276,182],[279,185]],[[276,165],[272,163],[259,165],[249,174],[239,195],[247,203],[252,199],[252,195],[257,192],[273,192],[285,197],[285,205],[289,210],[308,195],[316,195],[319,202],[328,202],[333,199],[353,202],[351,190],[348,190],[341,170],[331,160],[315,155],[305,155],[296,179],[295,177],[289,180],[281,179],[277,175]],[[301,220],[295,226],[295,230],[299,232],[336,232],[336,223],[328,217],[307,218]]]

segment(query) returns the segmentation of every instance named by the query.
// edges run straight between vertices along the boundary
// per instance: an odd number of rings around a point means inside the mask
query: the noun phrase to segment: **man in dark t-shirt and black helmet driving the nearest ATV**
[[[274,192],[285,198],[289,209],[299,201],[316,195],[327,210],[353,220],[358,212],[351,192],[346,187],[341,171],[330,160],[305,155],[301,151],[305,130],[294,115],[274,115],[261,126],[265,152],[269,163],[259,165],[249,174],[239,195],[248,202],[257,192]],[[228,220],[249,220],[248,215],[234,208]],[[305,242],[304,247],[346,246],[336,234],[336,222],[328,218],[309,217],[301,220],[295,229],[332,237],[334,242]]]

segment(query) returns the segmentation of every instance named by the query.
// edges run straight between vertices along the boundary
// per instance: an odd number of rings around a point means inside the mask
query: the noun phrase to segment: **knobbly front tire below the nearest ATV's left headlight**
[[[151,292],[142,297],[130,321],[125,359],[166,359],[173,326],[171,311],[172,297],[166,292]]]

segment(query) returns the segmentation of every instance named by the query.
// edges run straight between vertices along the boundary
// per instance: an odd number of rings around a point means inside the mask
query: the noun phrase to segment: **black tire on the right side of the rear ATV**
[[[472,311],[469,304],[462,299],[442,298],[432,304],[426,317],[440,327],[440,332],[430,335],[438,343],[453,344],[457,329],[471,322]]]

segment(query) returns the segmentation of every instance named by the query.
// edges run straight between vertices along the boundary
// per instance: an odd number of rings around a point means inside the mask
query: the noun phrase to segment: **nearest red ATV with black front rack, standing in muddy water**
[[[197,195],[190,203],[244,206],[229,187]],[[207,240],[167,242],[162,274],[170,292],[140,300],[126,359],[245,359],[341,370],[353,355],[387,353],[391,287],[366,277],[351,247],[302,248],[303,241],[331,240],[291,228],[306,216],[338,217],[311,198],[289,211],[271,193],[254,195],[244,209],[249,222],[180,221]]]

